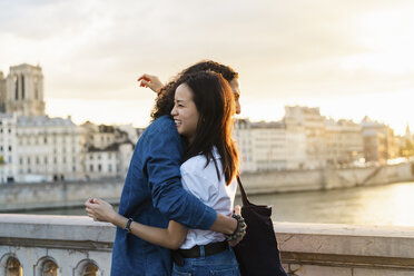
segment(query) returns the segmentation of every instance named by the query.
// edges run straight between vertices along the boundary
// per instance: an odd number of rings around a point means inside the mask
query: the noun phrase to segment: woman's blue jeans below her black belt
[[[198,258],[185,258],[184,266],[174,264],[172,276],[240,276],[235,253],[228,249],[204,256],[201,246],[201,256]]]

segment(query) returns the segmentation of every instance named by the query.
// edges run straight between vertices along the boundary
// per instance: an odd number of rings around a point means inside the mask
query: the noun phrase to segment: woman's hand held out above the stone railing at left
[[[114,223],[118,215],[110,204],[99,198],[89,198],[85,203],[85,207],[88,216],[95,221]]]

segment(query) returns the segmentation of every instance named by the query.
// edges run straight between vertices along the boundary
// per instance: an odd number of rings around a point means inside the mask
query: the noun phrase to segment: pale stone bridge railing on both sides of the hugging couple
[[[414,227],[275,223],[297,276],[414,275]],[[88,217],[0,215],[0,276],[109,275],[115,227]]]

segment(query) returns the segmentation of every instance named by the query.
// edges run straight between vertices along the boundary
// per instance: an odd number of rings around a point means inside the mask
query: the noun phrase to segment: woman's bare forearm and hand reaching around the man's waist
[[[96,221],[107,221],[125,228],[128,218],[116,213],[110,204],[99,198],[91,198],[85,203],[88,216]],[[132,221],[131,234],[137,237],[166,248],[178,249],[187,236],[187,229],[183,225],[170,220],[168,228],[159,228]]]

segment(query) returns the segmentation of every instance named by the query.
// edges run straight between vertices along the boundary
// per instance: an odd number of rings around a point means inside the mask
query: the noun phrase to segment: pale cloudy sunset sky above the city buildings
[[[149,122],[166,82],[213,59],[239,72],[241,115],[284,106],[414,129],[411,0],[0,0],[0,70],[40,65],[47,114],[81,124]]]

